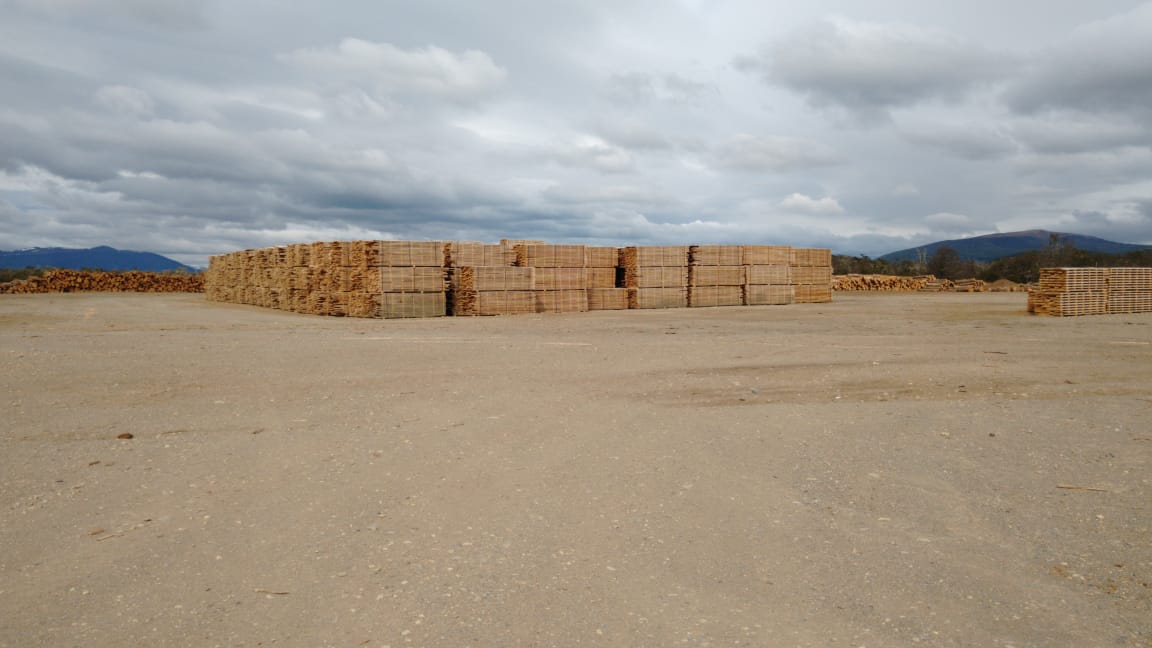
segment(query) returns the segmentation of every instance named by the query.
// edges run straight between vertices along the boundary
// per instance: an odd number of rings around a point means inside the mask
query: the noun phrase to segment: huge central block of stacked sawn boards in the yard
[[[214,256],[205,292],[384,318],[788,304],[832,300],[832,255],[789,246],[317,242]]]

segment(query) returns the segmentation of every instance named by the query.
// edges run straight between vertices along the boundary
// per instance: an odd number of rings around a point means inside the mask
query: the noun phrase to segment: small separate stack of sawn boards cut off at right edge
[[[1067,317],[1152,312],[1152,268],[1044,268],[1028,311]]]

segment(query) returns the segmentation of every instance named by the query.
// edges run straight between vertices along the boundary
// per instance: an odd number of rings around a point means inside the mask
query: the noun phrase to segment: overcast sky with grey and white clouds
[[[0,0],[0,249],[1152,243],[1152,2]]]

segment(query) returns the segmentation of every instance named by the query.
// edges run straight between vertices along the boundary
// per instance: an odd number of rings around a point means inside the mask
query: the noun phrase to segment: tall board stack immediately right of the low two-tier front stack
[[[585,246],[518,243],[516,265],[535,269],[536,312],[588,310]]]

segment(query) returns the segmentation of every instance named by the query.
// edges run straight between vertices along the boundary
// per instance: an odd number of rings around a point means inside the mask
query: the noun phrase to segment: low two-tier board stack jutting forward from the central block
[[[536,269],[465,265],[452,274],[453,315],[536,312]]]

